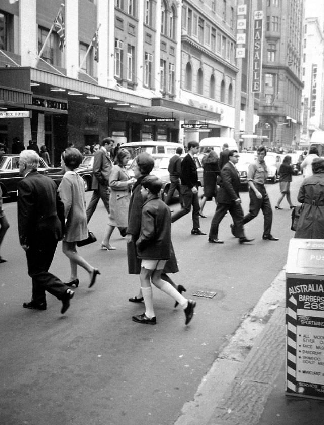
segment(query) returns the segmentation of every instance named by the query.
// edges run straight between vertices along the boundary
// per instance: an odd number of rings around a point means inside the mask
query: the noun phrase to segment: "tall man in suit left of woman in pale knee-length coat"
[[[92,198],[86,210],[87,221],[89,223],[91,216],[95,212],[96,206],[101,198],[108,214],[109,214],[109,174],[113,160],[110,152],[113,150],[114,140],[111,137],[105,137],[102,146],[95,153],[93,161],[93,177],[91,189],[93,189]]]

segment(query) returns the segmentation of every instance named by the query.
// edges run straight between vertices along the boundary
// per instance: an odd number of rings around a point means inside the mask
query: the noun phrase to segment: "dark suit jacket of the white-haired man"
[[[62,239],[64,205],[50,177],[28,173],[18,183],[17,210],[21,245]]]

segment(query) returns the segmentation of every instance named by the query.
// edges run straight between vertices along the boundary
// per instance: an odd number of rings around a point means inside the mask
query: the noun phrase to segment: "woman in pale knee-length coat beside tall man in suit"
[[[131,189],[136,179],[130,177],[125,166],[130,159],[127,149],[119,149],[116,155],[116,165],[111,168],[109,176],[110,198],[109,198],[109,219],[107,229],[101,249],[116,249],[110,244],[110,237],[115,227],[118,227],[123,235],[128,224],[128,207],[131,198]]]

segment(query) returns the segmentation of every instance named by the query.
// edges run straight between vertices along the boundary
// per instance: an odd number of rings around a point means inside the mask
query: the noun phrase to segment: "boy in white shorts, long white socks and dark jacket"
[[[136,242],[137,255],[141,264],[141,290],[145,303],[145,313],[133,316],[137,323],[156,324],[153,308],[153,288],[151,282],[161,291],[170,295],[184,310],[185,324],[193,316],[196,303],[187,300],[169,282],[161,279],[163,268],[170,258],[171,214],[169,207],[159,197],[162,181],[156,176],[144,177],[141,182],[143,196],[141,234]]]

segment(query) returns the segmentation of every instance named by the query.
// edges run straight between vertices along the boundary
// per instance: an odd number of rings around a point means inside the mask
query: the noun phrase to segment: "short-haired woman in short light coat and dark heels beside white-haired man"
[[[65,233],[63,237],[63,253],[70,260],[71,276],[66,285],[78,287],[77,266],[89,273],[89,288],[94,285],[99,270],[91,266],[76,250],[76,242],[88,237],[85,186],[82,177],[75,171],[82,161],[78,149],[67,148],[61,156],[61,165],[65,174],[59,186],[60,198],[64,204]]]

